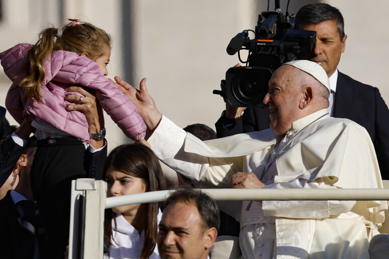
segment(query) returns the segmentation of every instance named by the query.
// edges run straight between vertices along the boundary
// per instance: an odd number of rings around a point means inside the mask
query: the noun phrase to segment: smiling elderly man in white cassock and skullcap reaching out
[[[382,188],[366,130],[328,115],[330,84],[311,61],[285,63],[263,102],[270,129],[202,142],[156,109],[145,79],[136,92],[118,87],[137,106],[153,151],[199,187]],[[234,203],[230,203],[234,204]],[[368,241],[384,220],[380,201],[243,201],[230,205],[240,221],[242,255],[251,258],[369,258]]]

